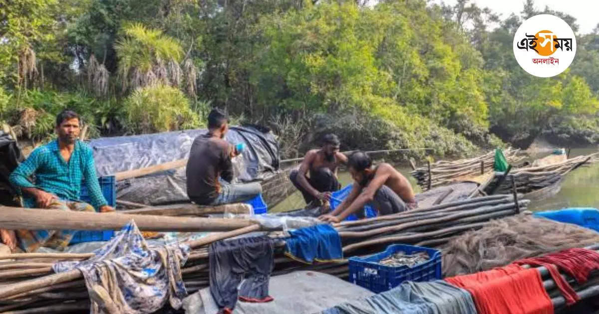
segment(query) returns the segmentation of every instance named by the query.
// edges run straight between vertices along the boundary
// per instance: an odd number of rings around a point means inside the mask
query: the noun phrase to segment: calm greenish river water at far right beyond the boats
[[[570,157],[597,153],[595,148],[572,149]],[[549,199],[530,203],[531,211],[550,211],[568,207],[599,208],[599,163],[579,167],[564,177],[561,190]]]

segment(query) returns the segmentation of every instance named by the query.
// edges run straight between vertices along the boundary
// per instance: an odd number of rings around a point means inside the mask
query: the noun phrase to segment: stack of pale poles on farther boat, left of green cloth
[[[518,163],[525,157],[519,156],[519,150],[508,148],[503,151],[509,163]],[[412,171],[423,191],[455,182],[457,178],[476,176],[493,170],[495,151],[489,151],[479,157],[455,161],[440,160]]]

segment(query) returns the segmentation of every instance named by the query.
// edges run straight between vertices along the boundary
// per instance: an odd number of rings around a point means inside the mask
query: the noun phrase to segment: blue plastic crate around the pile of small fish
[[[378,262],[395,252],[414,254],[427,252],[430,259],[413,267],[384,266]],[[401,285],[404,281],[432,281],[441,279],[441,252],[422,246],[394,244],[383,252],[367,257],[349,258],[349,281],[370,291],[380,293]]]

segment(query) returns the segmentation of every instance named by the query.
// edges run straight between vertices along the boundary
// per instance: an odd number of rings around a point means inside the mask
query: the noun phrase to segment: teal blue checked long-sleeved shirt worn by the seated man
[[[29,177],[35,173],[35,182]],[[98,209],[108,203],[102,195],[96,168],[93,164],[92,149],[86,144],[76,141],[71,159],[66,163],[60,156],[58,140],[36,148],[27,160],[19,164],[10,175],[10,182],[18,190],[20,188],[39,188],[48,193],[55,194],[62,200],[81,202],[81,181],[89,191],[91,204]],[[23,205],[34,208],[35,199],[26,197]]]

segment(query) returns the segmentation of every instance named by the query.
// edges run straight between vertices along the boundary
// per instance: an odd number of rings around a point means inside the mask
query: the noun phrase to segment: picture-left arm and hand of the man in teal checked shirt
[[[35,184],[29,181],[29,177],[33,175],[43,163],[43,156],[40,151],[41,148],[32,151],[29,157],[14,169],[8,179],[10,183],[17,188],[17,191],[23,191],[33,196],[40,208],[46,208],[56,196],[47,193],[44,190],[40,190],[35,187]]]

